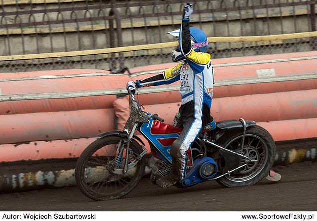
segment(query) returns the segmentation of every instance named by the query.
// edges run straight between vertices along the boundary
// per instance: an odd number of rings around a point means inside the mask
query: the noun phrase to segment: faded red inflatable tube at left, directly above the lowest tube
[[[95,137],[114,129],[113,109],[0,116],[0,144]]]

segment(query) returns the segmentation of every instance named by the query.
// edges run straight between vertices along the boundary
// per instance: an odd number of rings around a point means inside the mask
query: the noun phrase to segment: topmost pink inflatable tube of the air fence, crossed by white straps
[[[238,62],[262,61],[272,59],[286,59],[303,56],[315,56],[317,53],[302,52],[291,54],[275,54],[254,57],[240,58],[222,58],[215,59],[213,64],[230,64]],[[150,65],[147,67],[132,68],[132,72],[140,70],[166,69],[174,66],[175,63]],[[143,68],[143,69],[142,69]],[[239,80],[245,78],[265,78],[268,76],[290,76],[305,73],[314,73],[317,68],[315,60],[298,60],[287,62],[274,62],[264,64],[249,64],[240,66],[215,67],[215,80]],[[58,70],[58,71],[38,71],[33,73],[7,73],[2,74],[2,78],[10,77],[26,77],[26,76],[43,76],[43,75],[67,75],[79,73],[107,72],[104,70]],[[262,75],[261,75],[262,74]],[[46,80],[26,80],[0,82],[2,95],[14,95],[25,93],[54,93],[54,92],[70,92],[70,91],[89,91],[98,89],[124,88],[128,80],[144,79],[155,74],[137,74],[129,78],[126,75],[111,76],[94,76],[94,77],[74,77],[62,79],[46,79]],[[178,85],[179,82],[173,83]],[[255,83],[243,85],[230,85],[216,87],[214,90],[214,98],[242,96],[248,94],[285,92],[293,90],[309,90],[317,88],[317,79],[307,80],[289,80],[269,83]],[[140,89],[142,90],[142,89]],[[82,97],[82,98],[65,98],[64,100],[46,99],[46,100],[28,100],[28,101],[7,101],[0,102],[0,114],[20,114],[32,112],[53,112],[53,111],[73,111],[80,109],[100,109],[111,108],[112,102],[116,98],[115,95],[106,97]],[[143,105],[153,105],[159,103],[173,103],[180,101],[180,95],[177,91],[160,92],[152,94],[139,95]]]

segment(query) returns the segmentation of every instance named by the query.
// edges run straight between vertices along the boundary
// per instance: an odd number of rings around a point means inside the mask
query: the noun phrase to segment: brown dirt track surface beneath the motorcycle
[[[95,202],[77,187],[1,194],[0,211],[316,211],[317,163],[274,168],[282,179],[224,188],[215,181],[160,189],[148,178],[122,199]]]

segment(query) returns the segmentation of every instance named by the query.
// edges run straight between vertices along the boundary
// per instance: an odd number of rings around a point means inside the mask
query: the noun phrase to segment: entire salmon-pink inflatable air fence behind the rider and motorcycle
[[[216,84],[212,115],[216,121],[255,120],[275,141],[317,137],[317,78],[308,76],[315,73],[317,62],[304,59],[309,56],[317,56],[317,52],[213,60]],[[0,74],[0,98],[65,94],[59,99],[0,102],[0,161],[78,157],[98,133],[122,129],[129,106],[127,97],[115,94],[71,94],[125,88],[128,80],[143,79],[174,65],[132,68],[131,77],[93,69]],[[176,89],[137,97],[145,111],[158,113],[167,123],[180,106]]]

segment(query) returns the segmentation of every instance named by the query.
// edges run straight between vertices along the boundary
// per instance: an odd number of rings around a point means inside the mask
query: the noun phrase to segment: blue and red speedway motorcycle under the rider
[[[171,170],[170,147],[182,129],[142,111],[133,91],[128,92],[130,116],[123,131],[99,134],[76,164],[77,185],[93,200],[127,195],[143,177],[147,163],[154,184]],[[150,158],[136,130],[149,142]],[[212,120],[188,149],[185,178],[176,186],[187,188],[211,180],[225,187],[253,185],[268,174],[274,156],[272,136],[254,121]]]

